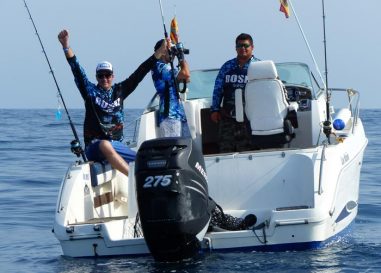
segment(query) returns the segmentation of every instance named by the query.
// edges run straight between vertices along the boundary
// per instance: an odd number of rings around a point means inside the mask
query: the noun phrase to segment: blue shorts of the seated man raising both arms
[[[101,140],[95,140],[90,145],[86,146],[85,153],[88,160],[101,162],[106,159],[99,149],[100,142]],[[127,163],[135,160],[136,152],[122,142],[113,140],[111,141],[111,145]]]

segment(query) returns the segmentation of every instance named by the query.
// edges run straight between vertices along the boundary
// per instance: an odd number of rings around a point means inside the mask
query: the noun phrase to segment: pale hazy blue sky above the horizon
[[[57,34],[70,45],[95,82],[103,60],[114,66],[115,82],[127,78],[163,37],[159,0],[27,0],[68,108],[83,108]],[[292,0],[318,67],[324,75],[321,0]],[[275,62],[314,64],[295,14],[286,19],[278,0],[162,0],[165,24],[176,15],[191,70],[219,68],[235,57],[238,34],[254,38],[254,55]],[[354,88],[362,108],[381,108],[380,0],[326,0],[328,85]],[[57,87],[23,0],[0,0],[0,108],[57,108]],[[154,94],[148,74],[126,99],[125,108],[144,108]]]

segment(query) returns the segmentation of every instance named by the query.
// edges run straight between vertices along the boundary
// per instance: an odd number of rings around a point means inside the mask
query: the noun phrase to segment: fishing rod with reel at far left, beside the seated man
[[[52,66],[50,65],[50,61],[49,61],[49,58],[48,58],[48,55],[46,54],[46,51],[45,51],[45,47],[42,43],[42,40],[41,40],[41,37],[38,33],[38,30],[37,30],[37,27],[36,27],[36,24],[34,23],[34,20],[33,20],[33,17],[32,17],[32,14],[29,10],[29,7],[26,3],[26,0],[23,0],[24,1],[24,5],[25,5],[25,8],[29,14],[29,18],[32,22],[32,25],[33,25],[33,28],[34,30],[36,31],[36,35],[37,35],[37,38],[38,38],[38,41],[40,42],[40,45],[41,45],[41,48],[42,48],[42,52],[44,53],[44,56],[45,56],[45,59],[46,59],[46,62],[48,63],[48,66],[49,66],[49,69],[50,69],[50,73],[52,74],[52,77],[53,77],[53,80],[54,80],[54,83],[56,84],[56,87],[57,87],[57,91],[58,91],[58,94],[60,96],[60,99],[62,101],[62,105],[64,106],[65,108],[65,112],[66,112],[66,115],[69,119],[69,124],[70,124],[70,127],[71,127],[71,130],[73,131],[73,134],[74,134],[74,140],[70,143],[71,144],[71,151],[76,154],[78,157],[81,155],[82,156],[82,159],[86,162],[87,161],[87,157],[86,157],[86,154],[85,152],[83,151],[82,147],[81,147],[81,142],[79,140],[79,137],[78,137],[78,134],[77,134],[77,131],[75,130],[75,127],[74,127],[74,123],[72,122],[71,120],[71,117],[69,115],[69,111],[67,110],[67,107],[66,107],[66,104],[65,104],[65,101],[63,99],[63,96],[62,96],[62,93],[61,93],[61,90],[60,90],[60,87],[58,85],[58,82],[57,82],[57,79],[56,79],[56,76],[54,75],[54,71],[52,69]]]

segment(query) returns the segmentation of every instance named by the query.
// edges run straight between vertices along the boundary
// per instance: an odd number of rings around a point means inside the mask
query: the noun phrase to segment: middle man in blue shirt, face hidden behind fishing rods
[[[177,82],[189,82],[189,67],[183,54],[180,52],[180,55],[178,55],[180,70],[174,67],[174,71],[172,71],[170,65],[171,56],[169,55],[171,41],[169,39],[158,41],[154,50],[156,51],[163,44],[167,46],[167,53],[156,61],[156,64],[151,70],[152,80],[160,97],[158,113],[159,137],[190,137],[184,107],[173,78],[176,77]]]

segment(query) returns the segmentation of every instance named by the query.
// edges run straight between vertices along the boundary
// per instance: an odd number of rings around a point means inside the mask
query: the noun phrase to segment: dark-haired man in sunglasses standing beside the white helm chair
[[[245,88],[249,64],[259,59],[253,55],[254,43],[249,34],[238,35],[235,45],[237,57],[222,65],[213,90],[211,120],[219,123],[220,152],[242,151],[250,144],[246,123],[235,120],[235,90]]]

